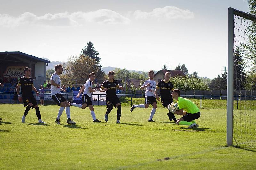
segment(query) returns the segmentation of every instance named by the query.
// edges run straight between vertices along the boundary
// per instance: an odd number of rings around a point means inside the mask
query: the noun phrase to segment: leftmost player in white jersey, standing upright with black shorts
[[[61,85],[61,80],[60,80],[60,74],[63,72],[62,65],[56,65],[55,66],[55,73],[52,74],[51,76],[51,96],[52,100],[55,101],[55,103],[60,106],[60,110],[57,116],[57,119],[55,123],[60,124],[60,116],[62,115],[62,112],[66,108],[66,114],[67,114],[67,123],[68,124],[76,124],[76,122],[73,122],[70,118],[70,104],[68,101],[61,95],[61,91],[66,91],[65,85]]]

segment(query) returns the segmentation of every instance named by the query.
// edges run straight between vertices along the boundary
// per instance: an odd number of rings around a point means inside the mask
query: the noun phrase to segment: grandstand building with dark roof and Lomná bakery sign
[[[50,63],[33,55],[20,51],[0,52],[0,76],[22,77],[24,68],[31,68],[34,87],[39,88],[46,81],[46,66]]]

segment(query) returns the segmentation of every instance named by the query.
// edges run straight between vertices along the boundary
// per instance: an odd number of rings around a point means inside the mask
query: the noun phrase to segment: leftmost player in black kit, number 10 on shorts
[[[39,111],[39,107],[37,105],[36,99],[32,93],[32,90],[36,92],[36,95],[38,96],[38,91],[33,85],[33,79],[31,76],[31,69],[29,67],[26,67],[24,69],[25,76],[20,78],[18,85],[17,85],[17,94],[18,94],[18,100],[21,102],[23,100],[24,107],[26,107],[24,115],[21,118],[21,122],[25,123],[26,115],[28,114],[28,111],[30,108],[35,108],[36,110],[36,116],[38,118],[38,123],[45,123],[41,120],[41,114]],[[21,93],[22,97],[20,96],[20,87],[21,87]]]

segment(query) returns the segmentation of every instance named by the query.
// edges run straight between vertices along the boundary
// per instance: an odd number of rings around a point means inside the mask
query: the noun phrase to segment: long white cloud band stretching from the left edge
[[[45,26],[77,26],[86,22],[99,24],[128,24],[130,20],[121,14],[108,10],[100,9],[92,12],[68,12],[45,14],[36,16],[33,13],[25,12],[18,17],[8,14],[0,14],[0,26],[15,27],[19,25],[45,25]]]

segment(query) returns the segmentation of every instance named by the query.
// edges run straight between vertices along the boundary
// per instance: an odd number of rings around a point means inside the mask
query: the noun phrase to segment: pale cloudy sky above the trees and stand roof
[[[1,1],[0,51],[67,61],[92,41],[102,66],[214,78],[227,66],[228,7],[244,0]]]

